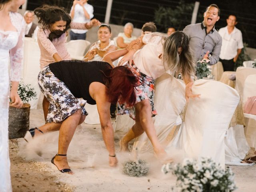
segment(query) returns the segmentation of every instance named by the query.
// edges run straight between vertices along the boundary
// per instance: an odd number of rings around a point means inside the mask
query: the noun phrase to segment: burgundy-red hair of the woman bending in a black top
[[[104,70],[104,80],[106,83],[108,100],[116,104],[126,103],[133,106],[136,102],[134,88],[139,85],[138,77],[126,66],[117,66]]]

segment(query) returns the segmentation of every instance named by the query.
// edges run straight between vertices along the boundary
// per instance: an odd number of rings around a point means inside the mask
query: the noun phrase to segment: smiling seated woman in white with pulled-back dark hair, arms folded
[[[102,61],[102,58],[109,52],[117,50],[113,40],[111,28],[109,25],[102,24],[98,29],[98,41],[92,44],[86,55],[84,61]]]

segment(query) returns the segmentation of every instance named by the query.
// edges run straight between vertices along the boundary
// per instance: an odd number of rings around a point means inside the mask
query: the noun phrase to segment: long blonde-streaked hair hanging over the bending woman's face
[[[178,48],[182,48],[182,52],[178,54]],[[189,48],[188,36],[182,31],[173,32],[164,40],[163,44],[163,61],[164,66],[172,72],[180,72],[182,76],[190,76],[194,74],[195,65],[193,56]]]

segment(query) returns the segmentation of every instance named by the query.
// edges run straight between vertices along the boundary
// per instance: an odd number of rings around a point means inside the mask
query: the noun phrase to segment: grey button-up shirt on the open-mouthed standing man
[[[222,37],[213,28],[208,34],[204,23],[191,24],[184,28],[183,32],[189,38],[189,46],[194,55],[194,61],[202,60],[207,51],[210,51],[210,65],[219,61]]]

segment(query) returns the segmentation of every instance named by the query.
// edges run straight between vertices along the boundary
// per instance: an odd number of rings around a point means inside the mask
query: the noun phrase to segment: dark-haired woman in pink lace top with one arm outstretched
[[[66,31],[69,28],[90,29],[93,26],[100,25],[96,19],[88,23],[73,23],[70,15],[64,8],[57,6],[44,5],[34,10],[38,17],[39,30],[37,33],[38,45],[41,51],[40,68],[48,66],[50,63],[61,60],[71,60],[66,49]],[[49,102],[44,97],[43,110],[44,119],[46,120]]]

